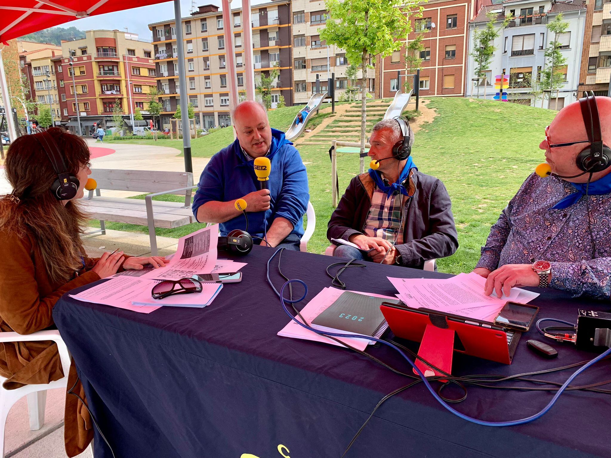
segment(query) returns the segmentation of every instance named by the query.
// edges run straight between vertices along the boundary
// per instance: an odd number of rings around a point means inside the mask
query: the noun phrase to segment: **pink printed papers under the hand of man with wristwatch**
[[[387,278],[397,288],[397,297],[408,307],[428,308],[490,322],[508,300],[526,304],[539,296],[521,288],[511,288],[509,296],[503,294],[499,298],[496,293],[486,296],[486,278],[473,272],[452,278]]]

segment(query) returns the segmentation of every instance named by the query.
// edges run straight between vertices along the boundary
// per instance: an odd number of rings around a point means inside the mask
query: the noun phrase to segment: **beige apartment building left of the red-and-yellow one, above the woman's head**
[[[59,125],[59,94],[51,59],[62,54],[61,46],[23,40],[17,40],[16,45],[21,73],[26,76],[29,85],[29,98],[36,102],[35,113],[38,113],[38,106],[49,107],[55,125]]]

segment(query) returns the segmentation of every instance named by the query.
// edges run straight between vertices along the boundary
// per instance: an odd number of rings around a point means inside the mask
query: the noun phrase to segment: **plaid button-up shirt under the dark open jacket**
[[[386,178],[382,178],[384,184],[388,184]],[[407,178],[403,186],[407,185]],[[403,244],[403,228],[407,211],[405,204],[408,196],[400,192],[394,192],[390,197],[378,186],[373,189],[371,196],[371,207],[365,220],[365,235],[368,237],[379,237],[393,242],[395,245]],[[403,205],[403,209],[401,209]],[[402,221],[403,220],[403,221]]]

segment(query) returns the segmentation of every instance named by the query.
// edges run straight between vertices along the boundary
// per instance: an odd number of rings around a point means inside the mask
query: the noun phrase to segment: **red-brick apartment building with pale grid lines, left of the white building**
[[[415,70],[406,69],[406,46],[419,35],[420,95],[461,96],[465,94],[465,70],[468,57],[467,24],[474,15],[475,0],[431,0],[422,4],[421,18],[409,15],[412,32],[399,51],[381,59],[378,57],[377,76],[381,80],[376,95],[392,97],[403,90],[405,78],[410,80]],[[409,66],[408,66],[409,67]],[[406,77],[406,75],[409,76]]]

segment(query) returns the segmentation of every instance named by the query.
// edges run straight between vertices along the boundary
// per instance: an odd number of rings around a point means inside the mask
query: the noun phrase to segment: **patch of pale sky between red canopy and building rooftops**
[[[251,5],[265,3],[265,0],[251,0]],[[199,5],[214,4],[221,7],[221,0],[196,0],[196,9]],[[232,2],[232,8],[239,8],[242,5],[241,0]],[[180,14],[184,18],[191,12],[191,0],[180,0]],[[93,29],[119,29],[125,31],[127,27],[129,32],[140,35],[140,38],[152,40],[153,35],[148,30],[148,24],[153,22],[164,21],[174,18],[174,2],[169,1],[156,5],[143,6],[133,8],[131,10],[119,11],[116,13],[107,13],[99,16],[91,16],[90,18],[82,18],[76,21],[71,21],[65,24],[60,24],[59,27],[75,26],[77,29],[86,31]]]

